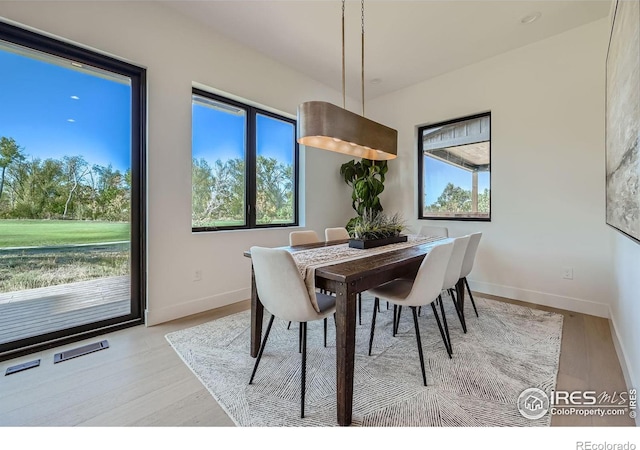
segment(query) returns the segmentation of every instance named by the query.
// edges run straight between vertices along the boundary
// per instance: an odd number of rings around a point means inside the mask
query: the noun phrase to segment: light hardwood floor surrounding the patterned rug
[[[626,391],[606,319],[485,297],[564,315],[558,390]],[[164,336],[248,307],[248,301],[240,302],[4,361],[0,363],[0,425],[233,426]],[[53,364],[55,353],[102,339],[109,341],[109,349]],[[3,376],[7,367],[38,358],[40,367]],[[628,416],[554,416],[551,424],[633,426],[634,422]]]

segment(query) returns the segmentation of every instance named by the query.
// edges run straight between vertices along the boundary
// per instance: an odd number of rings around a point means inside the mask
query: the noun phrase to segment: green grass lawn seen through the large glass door
[[[129,224],[87,220],[0,220],[0,248],[129,240]]]

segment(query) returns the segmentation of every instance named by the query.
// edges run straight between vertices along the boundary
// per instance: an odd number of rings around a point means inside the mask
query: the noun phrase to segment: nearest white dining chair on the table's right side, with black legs
[[[453,243],[451,242],[436,245],[422,260],[418,273],[413,281],[398,278],[369,290],[369,292],[375,297],[373,319],[371,321],[371,335],[369,337],[369,355],[371,355],[371,347],[373,345],[373,336],[376,325],[376,310],[380,303],[380,298],[384,298],[385,300],[393,303],[394,310],[397,306],[409,306],[413,312],[413,324],[416,331],[420,369],[422,370],[422,381],[425,386],[427,385],[427,376],[424,369],[422,340],[420,338],[420,328],[418,326],[418,314],[416,308],[418,306],[431,304],[433,314],[438,323],[438,328],[440,329],[440,335],[442,336],[447,353],[449,353],[449,357],[451,357],[447,337],[442,328],[442,324],[440,323],[434,302],[440,297],[442,292],[442,283],[452,251]]]

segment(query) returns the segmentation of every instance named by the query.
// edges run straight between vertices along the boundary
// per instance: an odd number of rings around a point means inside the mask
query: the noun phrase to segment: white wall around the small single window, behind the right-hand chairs
[[[607,42],[603,19],[369,102],[399,133],[385,209],[401,211],[416,231],[429,222],[454,236],[482,231],[473,289],[608,316]],[[416,127],[484,111],[492,120],[491,222],[418,221]],[[573,280],[562,278],[564,266]]]

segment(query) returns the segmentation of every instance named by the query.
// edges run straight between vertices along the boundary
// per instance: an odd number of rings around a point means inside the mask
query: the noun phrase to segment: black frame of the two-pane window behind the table
[[[193,219],[191,223],[191,231],[193,233],[209,232],[209,231],[227,231],[227,230],[250,230],[261,228],[283,228],[283,227],[297,227],[299,223],[299,164],[300,164],[300,146],[297,141],[297,121],[289,117],[267,111],[265,109],[253,106],[247,103],[240,102],[228,97],[224,97],[219,94],[192,88],[191,102],[193,104],[194,96],[204,97],[216,102],[228,104],[230,106],[240,108],[245,111],[246,123],[245,123],[245,224],[244,225],[230,225],[221,227],[194,227]],[[256,120],[258,114],[271,117],[273,119],[282,120],[293,125],[294,130],[294,161],[293,161],[293,214],[294,220],[291,223],[256,223],[256,174],[257,174],[257,127]],[[193,136],[193,130],[192,130]],[[193,158],[193,149],[191,151]],[[193,212],[193,204],[191,205],[191,211]]]

